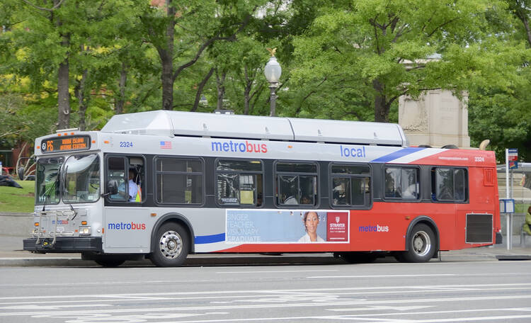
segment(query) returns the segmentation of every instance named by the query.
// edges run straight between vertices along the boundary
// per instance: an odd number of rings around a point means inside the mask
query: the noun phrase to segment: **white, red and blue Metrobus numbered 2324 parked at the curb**
[[[200,253],[423,262],[501,242],[494,153],[409,147],[390,123],[149,111],[39,137],[35,155],[23,249],[102,266]]]

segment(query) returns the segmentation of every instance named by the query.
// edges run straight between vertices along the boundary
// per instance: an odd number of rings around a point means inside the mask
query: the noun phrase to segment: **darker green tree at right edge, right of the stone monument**
[[[499,37],[511,42],[521,41],[527,51],[531,48],[531,7],[528,0],[508,1],[508,13],[504,19],[489,16],[497,28]],[[472,145],[481,140],[491,141],[489,149],[496,151],[498,162],[505,162],[505,149],[518,148],[520,160],[531,158],[531,68],[527,60],[518,69],[511,69],[512,79],[508,86],[488,84],[475,89],[469,96],[469,135]]]

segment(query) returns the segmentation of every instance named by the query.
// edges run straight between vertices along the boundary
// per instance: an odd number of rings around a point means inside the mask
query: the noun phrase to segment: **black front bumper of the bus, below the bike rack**
[[[57,237],[55,244],[53,238],[28,238],[23,240],[23,249],[27,251],[65,253],[65,252],[101,252],[101,237]]]

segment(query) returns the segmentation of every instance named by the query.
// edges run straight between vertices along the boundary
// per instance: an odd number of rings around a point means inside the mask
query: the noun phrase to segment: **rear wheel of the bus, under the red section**
[[[408,240],[409,250],[396,254],[402,262],[426,262],[435,254],[435,234],[428,225],[419,224],[413,227]]]

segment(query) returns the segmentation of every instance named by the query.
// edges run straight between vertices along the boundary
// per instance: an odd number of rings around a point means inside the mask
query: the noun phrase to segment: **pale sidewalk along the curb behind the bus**
[[[22,250],[25,237],[0,236],[0,266],[97,266],[93,261],[81,260],[81,254],[32,254]],[[514,237],[513,249],[507,250],[505,244],[482,246],[479,248],[455,251],[441,251],[440,261],[516,261],[531,260],[531,242],[521,247],[520,238]],[[518,246],[517,246],[518,244]],[[387,257],[384,262],[394,261]],[[432,261],[439,261],[433,259]],[[332,264],[344,263],[341,259],[327,254],[282,254],[271,256],[263,254],[193,254],[188,256],[186,266],[234,266],[268,264]],[[152,266],[149,260],[127,261],[125,266]]]

